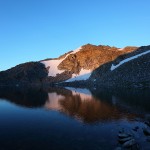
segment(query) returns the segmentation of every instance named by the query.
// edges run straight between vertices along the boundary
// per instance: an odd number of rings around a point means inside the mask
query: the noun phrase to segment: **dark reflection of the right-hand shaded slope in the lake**
[[[92,95],[100,98],[101,101],[112,103],[121,109],[126,108],[128,111],[136,111],[139,113],[150,113],[150,91],[128,89],[128,90],[92,90]]]

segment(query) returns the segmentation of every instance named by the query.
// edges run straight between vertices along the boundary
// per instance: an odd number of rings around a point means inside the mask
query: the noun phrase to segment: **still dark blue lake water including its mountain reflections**
[[[148,93],[1,89],[0,150],[115,150],[122,147],[120,130],[149,150],[143,133],[150,118]]]

